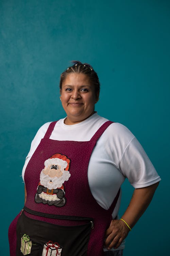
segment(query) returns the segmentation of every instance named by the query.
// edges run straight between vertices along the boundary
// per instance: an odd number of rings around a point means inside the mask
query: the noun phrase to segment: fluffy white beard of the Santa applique
[[[63,171],[63,175],[61,177],[51,178],[48,174],[44,174],[42,170],[40,173],[40,183],[48,189],[56,189],[57,187],[60,188],[65,181],[68,181],[69,177],[69,171]]]

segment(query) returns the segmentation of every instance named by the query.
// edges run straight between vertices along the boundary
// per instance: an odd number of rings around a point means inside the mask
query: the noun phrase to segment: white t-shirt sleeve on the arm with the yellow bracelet
[[[119,161],[119,169],[134,188],[147,187],[161,180],[135,137],[126,146]]]

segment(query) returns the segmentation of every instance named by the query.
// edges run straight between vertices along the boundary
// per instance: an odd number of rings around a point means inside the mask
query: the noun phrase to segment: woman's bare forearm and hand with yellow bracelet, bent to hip
[[[136,188],[134,190],[132,199],[125,213],[121,217],[128,225],[133,228],[141,215],[145,212],[148,205],[150,204],[154,192],[159,182],[144,188]],[[105,246],[107,249],[119,247],[123,239],[128,236],[130,229],[120,219],[114,219],[111,221],[109,228],[105,233]]]

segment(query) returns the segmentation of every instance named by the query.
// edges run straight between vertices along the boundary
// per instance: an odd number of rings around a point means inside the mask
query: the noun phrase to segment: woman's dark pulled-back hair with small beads
[[[99,93],[100,93],[100,82],[99,82],[99,77],[95,72],[95,70],[88,63],[82,63],[78,60],[73,60],[71,62],[73,63],[73,65],[68,69],[66,69],[60,76],[60,90],[62,89],[62,83],[66,79],[68,74],[82,73],[87,75],[92,85],[94,85],[96,99],[98,100]]]

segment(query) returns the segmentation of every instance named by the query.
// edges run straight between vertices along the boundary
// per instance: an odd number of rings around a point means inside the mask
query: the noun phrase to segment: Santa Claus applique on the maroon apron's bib
[[[44,165],[35,202],[62,207],[66,203],[63,183],[70,177],[70,159],[65,155],[55,154],[47,159]]]

